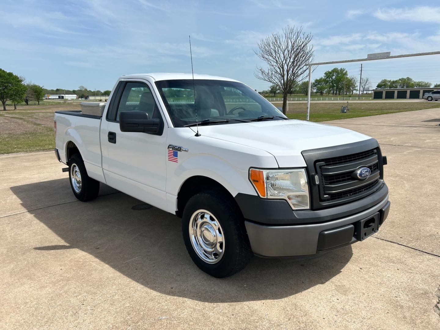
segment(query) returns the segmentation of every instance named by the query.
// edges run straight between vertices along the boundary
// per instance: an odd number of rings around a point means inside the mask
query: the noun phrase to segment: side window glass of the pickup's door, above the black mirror
[[[141,82],[125,84],[121,101],[117,107],[116,121],[119,121],[121,111],[143,111],[150,118],[160,118],[158,106],[154,101],[150,88]]]

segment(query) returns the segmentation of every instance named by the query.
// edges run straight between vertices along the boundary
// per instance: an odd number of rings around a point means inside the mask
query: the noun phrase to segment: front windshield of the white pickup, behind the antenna
[[[287,119],[263,96],[236,81],[195,79],[193,88],[191,79],[162,80],[156,86],[175,127],[195,124],[196,108],[197,121],[206,124]],[[227,120],[214,120],[222,118]]]

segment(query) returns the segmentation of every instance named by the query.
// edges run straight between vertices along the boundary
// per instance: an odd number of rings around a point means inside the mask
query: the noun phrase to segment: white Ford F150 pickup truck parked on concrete
[[[225,277],[262,257],[362,241],[389,213],[378,142],[289,120],[238,81],[122,76],[102,116],[55,112],[55,154],[80,201],[99,183],[182,218],[194,263]]]

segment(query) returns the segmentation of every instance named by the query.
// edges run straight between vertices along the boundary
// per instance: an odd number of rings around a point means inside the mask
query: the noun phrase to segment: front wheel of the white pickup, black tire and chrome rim
[[[182,233],[194,264],[214,277],[241,271],[253,256],[238,206],[219,191],[190,198],[183,210]]]

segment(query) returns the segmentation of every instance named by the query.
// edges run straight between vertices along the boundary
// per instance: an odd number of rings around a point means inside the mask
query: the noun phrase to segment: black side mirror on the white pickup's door
[[[150,119],[143,111],[122,111],[119,114],[119,128],[121,132],[149,132],[158,133],[160,120]]]

